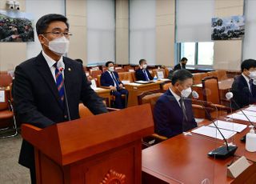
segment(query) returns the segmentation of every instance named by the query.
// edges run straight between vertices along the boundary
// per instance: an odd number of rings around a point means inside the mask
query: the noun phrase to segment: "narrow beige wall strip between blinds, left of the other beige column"
[[[129,63],[129,0],[116,0],[115,62]]]

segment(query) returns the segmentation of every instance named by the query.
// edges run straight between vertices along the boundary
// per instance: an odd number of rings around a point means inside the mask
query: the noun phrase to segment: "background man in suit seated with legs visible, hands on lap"
[[[101,86],[110,87],[111,94],[115,97],[115,108],[123,109],[126,107],[128,90],[124,89],[118,73],[114,71],[114,62],[106,62],[106,71],[101,76]],[[122,94],[126,94],[125,102],[122,102]]]

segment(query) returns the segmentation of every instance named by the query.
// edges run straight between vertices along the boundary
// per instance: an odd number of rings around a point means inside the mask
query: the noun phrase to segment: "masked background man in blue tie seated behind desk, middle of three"
[[[146,60],[139,60],[139,69],[135,71],[135,77],[137,81],[150,81],[153,79],[149,70],[147,70],[146,67]]]

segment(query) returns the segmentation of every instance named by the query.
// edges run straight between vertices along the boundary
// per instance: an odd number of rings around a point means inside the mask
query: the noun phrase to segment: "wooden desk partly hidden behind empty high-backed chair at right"
[[[218,81],[218,90],[221,99],[226,98],[226,92],[231,89],[233,82],[234,78],[228,78],[226,80]],[[193,85],[192,90],[198,92],[199,100],[203,100],[202,83]]]

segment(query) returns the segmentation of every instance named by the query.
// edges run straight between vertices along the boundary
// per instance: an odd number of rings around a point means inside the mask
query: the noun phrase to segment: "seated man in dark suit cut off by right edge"
[[[256,102],[256,60],[246,59],[241,64],[242,74],[234,79],[231,91],[234,94],[232,107],[236,110]]]

